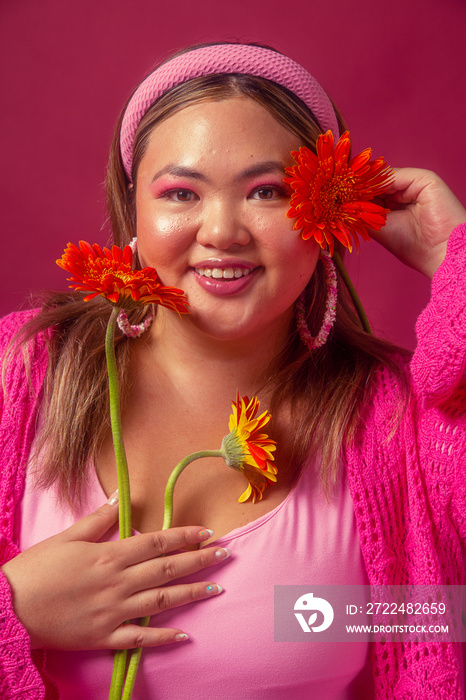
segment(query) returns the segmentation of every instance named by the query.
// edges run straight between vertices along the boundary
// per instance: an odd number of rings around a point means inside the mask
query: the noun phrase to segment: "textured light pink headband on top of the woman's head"
[[[131,180],[133,143],[144,114],[164,92],[202,75],[242,73],[272,80],[301,98],[322,131],[339,136],[338,122],[328,96],[315,78],[288,56],[247,44],[215,44],[172,58],[151,73],[137,88],[126,108],[120,131],[123,165]]]

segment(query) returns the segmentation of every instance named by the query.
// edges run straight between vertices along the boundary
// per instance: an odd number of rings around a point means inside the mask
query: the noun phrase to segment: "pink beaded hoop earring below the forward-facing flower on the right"
[[[330,331],[334,326],[335,317],[337,313],[338,288],[337,271],[335,269],[335,264],[328,250],[320,251],[320,259],[325,268],[325,279],[327,282],[327,301],[325,303],[324,320],[322,321],[322,326],[320,327],[320,330],[315,337],[311,335],[306,321],[308,310],[305,308],[305,290],[301,293],[298,301],[296,302],[296,325],[298,327],[299,336],[303,341],[304,345],[306,345],[311,351],[322,347],[322,345],[325,345]]]

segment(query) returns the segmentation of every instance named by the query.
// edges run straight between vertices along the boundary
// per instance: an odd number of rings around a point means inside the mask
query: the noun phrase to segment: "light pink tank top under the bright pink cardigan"
[[[106,500],[92,473],[80,515]],[[38,492],[27,478],[19,513],[21,549],[76,519],[58,503],[54,489]],[[157,626],[188,632],[190,640],[143,651],[134,700],[372,697],[368,644],[274,642],[274,585],[368,584],[345,478],[328,503],[308,468],[279,506],[216,543],[228,547],[231,557],[208,574],[179,581],[211,578],[224,592],[153,618]],[[61,700],[106,700],[112,662],[110,651],[47,653]]]

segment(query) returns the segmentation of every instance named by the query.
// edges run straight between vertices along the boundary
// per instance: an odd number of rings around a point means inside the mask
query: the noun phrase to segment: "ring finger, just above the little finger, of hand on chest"
[[[165,610],[179,608],[207,598],[215,598],[223,588],[217,583],[180,583],[175,586],[148,589],[127,599],[122,613],[127,619],[151,617]]]

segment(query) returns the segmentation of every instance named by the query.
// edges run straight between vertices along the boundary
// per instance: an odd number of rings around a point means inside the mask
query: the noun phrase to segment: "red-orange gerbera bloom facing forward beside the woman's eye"
[[[370,240],[368,229],[380,231],[390,211],[371,200],[387,191],[393,171],[383,158],[370,160],[370,148],[349,160],[350,148],[349,131],[336,147],[327,131],[317,139],[317,155],[306,147],[292,151],[297,165],[286,168],[290,177],[284,179],[293,190],[288,216],[296,218],[294,228],[305,240],[328,245],[331,255],[333,237],[350,251],[354,241],[359,250],[357,234]]]

